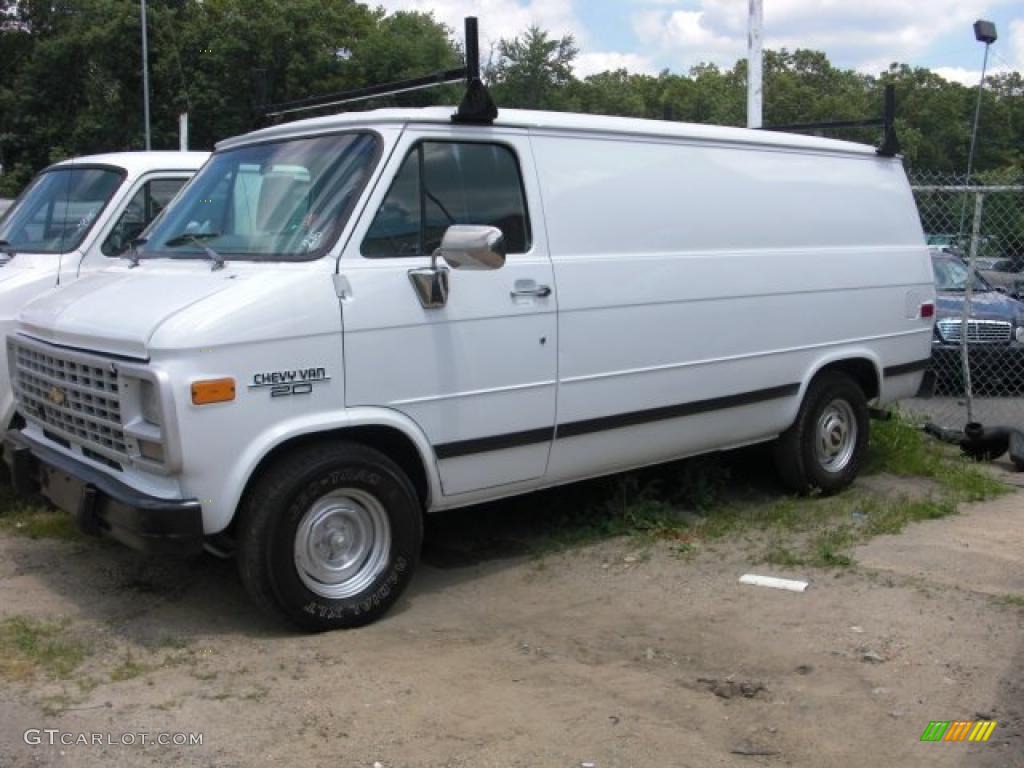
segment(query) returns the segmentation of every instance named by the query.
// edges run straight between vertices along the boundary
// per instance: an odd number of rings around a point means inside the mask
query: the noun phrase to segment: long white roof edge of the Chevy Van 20
[[[452,125],[452,115],[455,113],[455,110],[456,108],[454,106],[384,109],[308,118],[224,139],[217,142],[216,151],[231,150],[262,141],[275,141],[299,136],[331,133],[333,131],[361,126],[404,126],[410,123]],[[502,110],[498,115],[498,119],[492,125],[471,128],[479,130],[482,133],[496,128],[528,128],[537,131],[549,130],[597,133],[609,136],[675,138],[877,157],[877,151],[873,146],[831,138],[819,138],[817,136],[805,136],[770,130],[734,128],[730,126],[678,123],[666,120],[644,120],[641,118],[621,118],[567,112]]]

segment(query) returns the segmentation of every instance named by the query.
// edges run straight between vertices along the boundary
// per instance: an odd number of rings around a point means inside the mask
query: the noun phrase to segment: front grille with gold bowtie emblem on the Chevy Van
[[[23,416],[106,460],[127,462],[117,370],[101,357],[11,340],[11,381]]]

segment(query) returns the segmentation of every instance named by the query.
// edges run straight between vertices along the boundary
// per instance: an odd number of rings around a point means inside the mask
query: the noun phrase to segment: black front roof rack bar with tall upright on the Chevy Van
[[[378,96],[391,96],[398,93],[409,93],[427,88],[436,88],[447,83],[466,83],[466,93],[463,95],[459,110],[452,116],[454,123],[477,123],[489,125],[498,117],[498,106],[490,97],[487,86],[480,79],[480,42],[479,30],[475,16],[466,17],[466,66],[452,70],[441,70],[423,77],[397,80],[393,83],[371,85],[336,93],[324,93],[317,96],[298,98],[292,101],[282,101],[274,104],[263,104],[257,112],[267,121],[282,122],[299,113],[312,110],[323,110],[329,106],[340,106],[357,101],[366,101]]]

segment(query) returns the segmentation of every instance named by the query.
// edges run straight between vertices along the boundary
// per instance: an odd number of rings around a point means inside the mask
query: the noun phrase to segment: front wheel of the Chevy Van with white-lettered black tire
[[[361,523],[359,509],[366,517]],[[237,557],[246,590],[270,612],[313,632],[360,627],[387,612],[409,585],[423,542],[422,509],[404,472],[380,452],[353,443],[319,443],[288,454],[256,480],[240,515]],[[311,519],[322,522],[313,525]],[[301,556],[296,545],[300,527],[313,531],[300,537],[308,545]],[[351,535],[368,529],[374,536]],[[317,555],[315,562],[342,562],[333,536],[341,537],[339,547],[372,542],[366,545],[372,554],[362,560],[361,569],[339,584],[316,581],[312,570],[300,564],[302,557]],[[354,564],[358,560],[353,556]],[[357,591],[331,593],[345,589]]]

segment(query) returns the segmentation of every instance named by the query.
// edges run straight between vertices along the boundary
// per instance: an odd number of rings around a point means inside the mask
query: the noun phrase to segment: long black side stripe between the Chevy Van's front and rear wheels
[[[454,459],[459,456],[479,454],[487,451],[502,451],[504,449],[519,447],[521,445],[531,445],[538,442],[548,442],[551,439],[565,437],[579,437],[593,432],[604,432],[609,429],[622,429],[623,427],[633,427],[639,424],[649,424],[655,421],[667,419],[679,419],[685,416],[696,416],[713,411],[723,411],[740,406],[753,406],[758,402],[774,400],[780,397],[790,397],[800,391],[800,384],[785,384],[780,387],[770,387],[768,389],[757,389],[753,392],[741,392],[730,394],[724,397],[712,397],[707,400],[694,400],[691,402],[680,402],[675,406],[664,406],[662,408],[646,409],[644,411],[631,411],[614,416],[602,416],[597,419],[585,419],[584,421],[568,422],[559,424],[557,431],[554,429],[530,429],[525,432],[510,432],[508,434],[492,435],[489,437],[478,437],[471,440],[460,440],[458,442],[445,442],[435,445],[434,452],[438,459]]]

